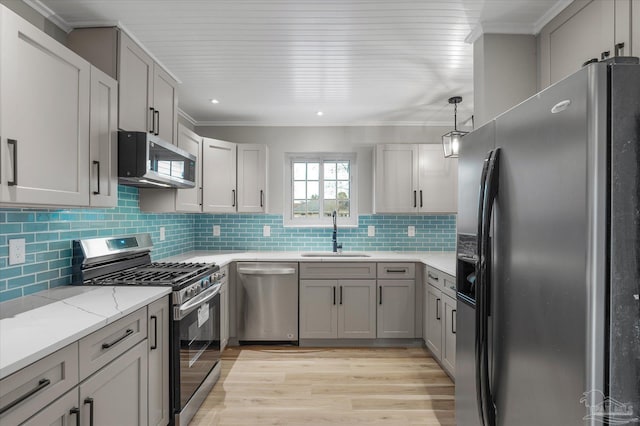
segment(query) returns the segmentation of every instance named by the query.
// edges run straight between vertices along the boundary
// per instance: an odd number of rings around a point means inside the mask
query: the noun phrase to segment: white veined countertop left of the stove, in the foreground
[[[170,292],[169,287],[62,286],[0,303],[0,379]]]

